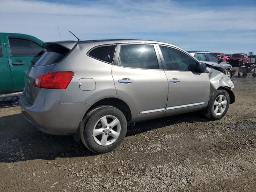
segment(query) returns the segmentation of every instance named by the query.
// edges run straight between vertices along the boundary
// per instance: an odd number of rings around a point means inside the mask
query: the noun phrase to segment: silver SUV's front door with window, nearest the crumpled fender
[[[207,106],[210,80],[207,73],[194,72],[196,60],[177,48],[159,45],[158,50],[168,79],[166,115]]]

